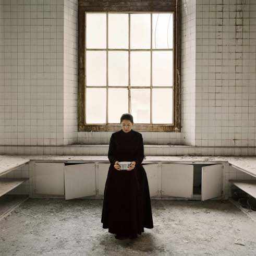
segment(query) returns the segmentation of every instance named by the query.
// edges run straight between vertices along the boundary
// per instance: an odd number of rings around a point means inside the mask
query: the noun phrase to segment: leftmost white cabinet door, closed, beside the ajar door
[[[64,163],[35,163],[34,192],[37,194],[64,195]]]

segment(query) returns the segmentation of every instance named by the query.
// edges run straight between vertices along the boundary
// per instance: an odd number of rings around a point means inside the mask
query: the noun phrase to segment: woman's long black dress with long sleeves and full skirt
[[[148,178],[142,161],[144,146],[141,133],[122,129],[112,133],[101,222],[112,234],[139,234],[153,228]],[[132,170],[117,170],[115,161],[135,161]]]

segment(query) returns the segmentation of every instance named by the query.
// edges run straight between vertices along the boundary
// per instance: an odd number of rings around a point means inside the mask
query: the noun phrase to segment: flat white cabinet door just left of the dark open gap
[[[192,198],[193,165],[163,163],[162,196]]]

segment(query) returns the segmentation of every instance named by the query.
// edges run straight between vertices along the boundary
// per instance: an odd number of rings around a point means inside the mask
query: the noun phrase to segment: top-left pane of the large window
[[[86,47],[106,48],[106,14],[86,14]]]

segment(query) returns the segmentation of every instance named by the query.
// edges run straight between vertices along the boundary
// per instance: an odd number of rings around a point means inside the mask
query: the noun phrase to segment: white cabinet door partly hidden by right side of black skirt
[[[159,165],[144,164],[143,167],[148,178],[150,197],[159,196]]]

